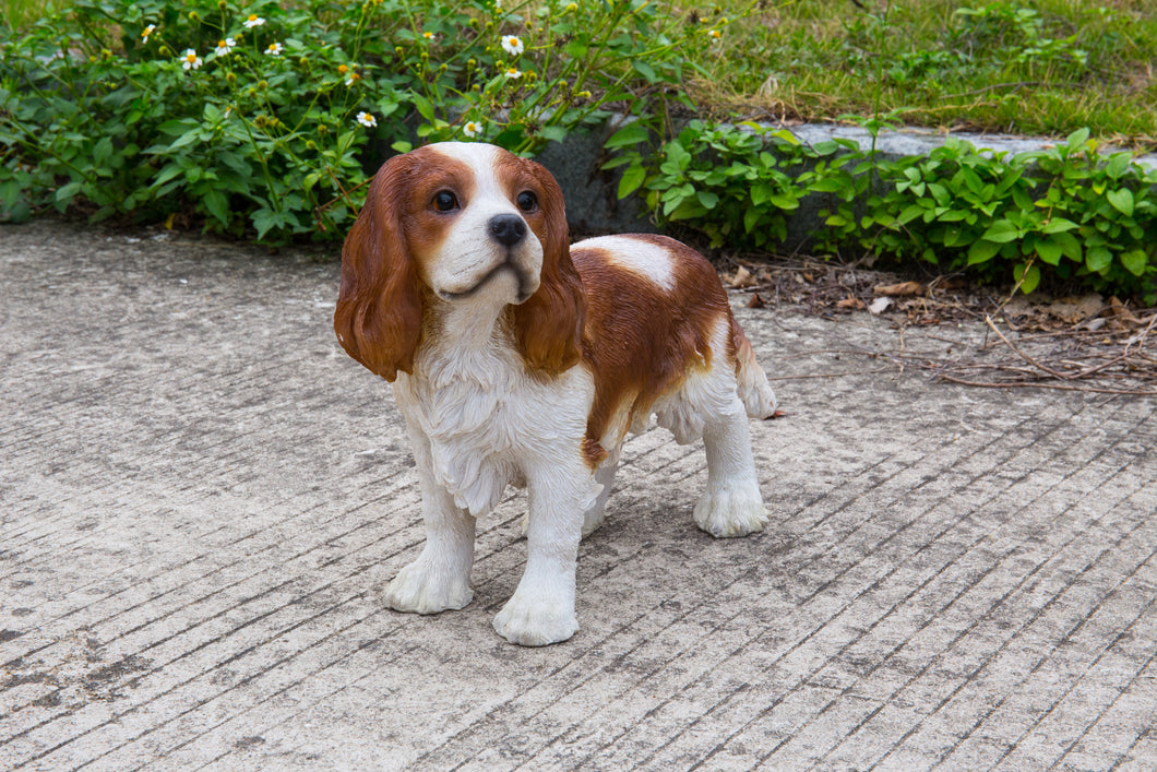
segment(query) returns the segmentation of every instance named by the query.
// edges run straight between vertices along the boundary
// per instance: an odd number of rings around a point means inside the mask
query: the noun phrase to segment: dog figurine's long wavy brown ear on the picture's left
[[[386,381],[413,370],[422,332],[418,271],[401,231],[399,191],[410,190],[408,168],[406,156],[396,156],[374,177],[341,249],[333,313],[341,347]]]

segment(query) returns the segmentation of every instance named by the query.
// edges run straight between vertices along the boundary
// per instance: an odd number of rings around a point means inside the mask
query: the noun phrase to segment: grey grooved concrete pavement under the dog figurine
[[[639,435],[582,630],[518,648],[521,494],[467,609],[379,603],[419,495],[337,275],[0,230],[0,769],[1157,767],[1152,400],[930,384],[854,353],[880,319],[737,309],[791,378],[752,425],[769,527],[698,531],[701,448]]]

